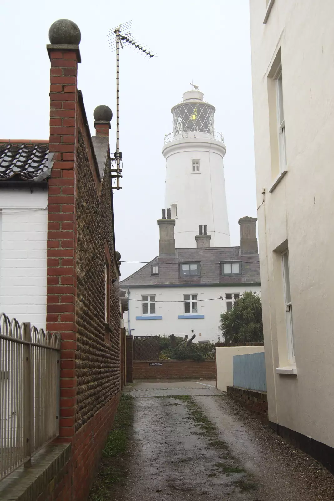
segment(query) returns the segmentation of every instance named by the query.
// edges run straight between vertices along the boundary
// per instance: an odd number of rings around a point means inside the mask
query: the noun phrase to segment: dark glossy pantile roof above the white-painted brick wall
[[[40,181],[48,168],[48,142],[0,142],[0,181]]]

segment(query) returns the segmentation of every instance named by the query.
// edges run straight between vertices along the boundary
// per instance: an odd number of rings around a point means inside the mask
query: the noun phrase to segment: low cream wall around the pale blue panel
[[[226,386],[233,386],[233,356],[261,353],[264,346],[217,346],[217,388],[226,391]]]

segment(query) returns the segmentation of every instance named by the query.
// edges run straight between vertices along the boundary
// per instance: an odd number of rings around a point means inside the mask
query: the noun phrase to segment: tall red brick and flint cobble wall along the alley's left
[[[100,171],[76,86],[78,47],[48,46],[48,52],[54,163],[48,192],[46,328],[61,335],[57,441],[72,445],[70,464],[48,499],[85,501],[119,400],[119,269],[109,151]]]

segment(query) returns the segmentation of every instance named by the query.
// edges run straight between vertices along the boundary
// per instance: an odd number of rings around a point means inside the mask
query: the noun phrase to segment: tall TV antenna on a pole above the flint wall
[[[132,21],[127,21],[126,23],[120,24],[111,28],[108,31],[108,45],[111,52],[116,51],[116,151],[114,153],[114,160],[116,162],[116,168],[111,169],[111,172],[115,172],[111,174],[112,178],[116,179],[116,185],[112,186],[112,189],[119,190],[121,187],[119,186],[119,180],[122,177],[120,175],[122,169],[120,168],[120,162],[122,161],[122,154],[119,151],[119,45],[123,49],[125,45],[130,45],[134,49],[137,49],[138,52],[145,54],[149,59],[155,56],[152,54],[146,46],[139,44],[138,40],[134,40],[130,33]]]

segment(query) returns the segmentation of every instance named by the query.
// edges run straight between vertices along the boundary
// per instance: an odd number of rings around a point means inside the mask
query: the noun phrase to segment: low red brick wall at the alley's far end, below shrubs
[[[149,365],[150,363],[162,365]],[[133,379],[201,378],[215,379],[215,360],[149,360],[133,361]]]

